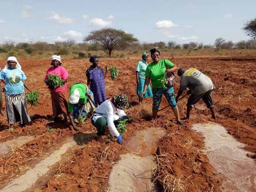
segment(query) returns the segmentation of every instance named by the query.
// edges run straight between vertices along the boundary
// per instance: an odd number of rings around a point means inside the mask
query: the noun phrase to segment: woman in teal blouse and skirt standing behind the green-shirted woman
[[[144,83],[145,83],[145,71],[146,68],[148,67],[148,53],[143,52],[142,53],[142,60],[138,62],[137,67],[136,67],[136,83],[137,83],[137,95],[139,97],[139,103],[142,103],[143,97],[140,97],[140,94],[143,92],[144,88]],[[144,97],[152,97],[152,91],[150,88],[150,85],[148,85],[148,88],[145,92]]]

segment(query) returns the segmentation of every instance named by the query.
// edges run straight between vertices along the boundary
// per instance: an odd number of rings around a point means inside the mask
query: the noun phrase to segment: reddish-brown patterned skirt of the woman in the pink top
[[[57,117],[63,114],[64,118],[67,118],[68,113],[68,92],[51,92],[52,96],[52,113],[53,117]]]

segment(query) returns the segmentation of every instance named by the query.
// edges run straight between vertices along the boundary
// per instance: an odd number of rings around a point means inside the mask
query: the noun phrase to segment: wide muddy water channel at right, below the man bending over
[[[205,137],[202,150],[217,172],[222,173],[226,191],[256,191],[256,163],[246,156],[245,144],[236,141],[219,124],[194,124],[192,129]]]

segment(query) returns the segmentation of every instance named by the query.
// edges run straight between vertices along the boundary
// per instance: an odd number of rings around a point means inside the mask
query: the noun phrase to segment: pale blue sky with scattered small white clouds
[[[4,40],[79,43],[92,30],[122,29],[140,43],[248,40],[243,21],[255,18],[255,0],[0,0]]]

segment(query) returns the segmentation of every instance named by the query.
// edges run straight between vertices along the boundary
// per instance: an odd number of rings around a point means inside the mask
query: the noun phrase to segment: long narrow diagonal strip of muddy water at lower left
[[[17,191],[17,188],[19,189],[18,191],[28,190],[36,183],[38,178],[50,171],[50,166],[61,160],[61,155],[64,154],[68,148],[74,145],[76,145],[76,141],[74,141],[73,138],[68,138],[64,144],[50,156],[36,164],[33,169],[30,169],[24,175],[8,183],[1,191]]]

